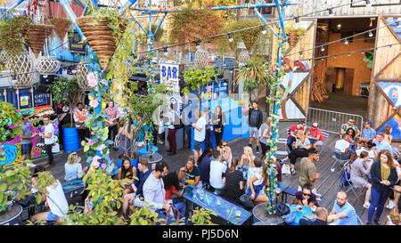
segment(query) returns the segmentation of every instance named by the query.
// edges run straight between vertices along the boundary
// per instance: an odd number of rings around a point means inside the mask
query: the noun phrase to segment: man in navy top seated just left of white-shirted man
[[[136,188],[134,193],[129,193],[124,196],[123,202],[123,213],[127,218],[127,209],[129,205],[135,204],[135,206],[143,206],[143,203],[140,199],[143,194],[143,184],[148,179],[149,174],[151,174],[151,170],[149,170],[148,160],[146,158],[139,158],[138,160],[138,169],[139,169],[139,186]],[[135,203],[134,203],[135,201]]]

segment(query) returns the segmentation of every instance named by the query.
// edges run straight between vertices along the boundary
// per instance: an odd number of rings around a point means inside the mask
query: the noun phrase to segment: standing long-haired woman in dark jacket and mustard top
[[[376,212],[374,223],[379,225],[384,204],[398,179],[396,165],[389,150],[379,151],[371,167],[371,178],[371,205],[366,224],[372,224],[372,217]]]

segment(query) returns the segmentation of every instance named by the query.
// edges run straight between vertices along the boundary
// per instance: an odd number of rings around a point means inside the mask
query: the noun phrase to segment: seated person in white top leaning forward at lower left
[[[56,183],[47,186],[46,189],[48,193],[45,194],[45,207],[49,207],[50,211],[32,215],[30,217],[32,222],[37,220],[55,221],[58,217],[69,212],[69,203],[65,198],[61,183],[57,180]]]

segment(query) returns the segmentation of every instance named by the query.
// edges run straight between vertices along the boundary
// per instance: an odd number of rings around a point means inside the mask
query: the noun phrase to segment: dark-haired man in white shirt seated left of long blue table
[[[164,161],[156,164],[154,171],[149,175],[143,184],[143,199],[151,207],[151,211],[166,209],[169,211],[171,206],[166,202],[164,182],[162,177],[168,174],[168,165]]]

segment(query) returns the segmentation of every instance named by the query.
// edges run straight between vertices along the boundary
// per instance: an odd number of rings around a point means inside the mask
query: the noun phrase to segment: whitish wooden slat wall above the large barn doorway
[[[354,0],[354,3],[358,0]],[[401,12],[401,4],[399,0],[371,0],[372,4],[398,4],[389,6],[372,6],[367,7],[351,7],[351,0],[307,0],[300,1],[301,4],[295,6],[286,7],[286,16],[295,16],[308,14],[310,12],[316,12],[320,10],[326,10],[333,6],[339,6],[348,4],[340,8],[334,8],[334,16],[350,16],[352,15],[374,15],[379,14],[399,14]],[[364,2],[360,2],[354,5],[364,5]],[[309,17],[324,17],[327,16],[328,12],[316,12],[314,14],[308,14]]]

